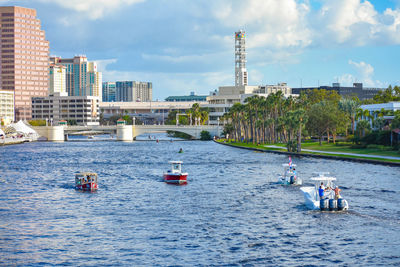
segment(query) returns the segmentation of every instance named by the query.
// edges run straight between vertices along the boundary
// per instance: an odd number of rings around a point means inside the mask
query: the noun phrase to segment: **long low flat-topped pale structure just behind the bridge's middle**
[[[207,102],[197,103],[201,107],[207,104]],[[128,115],[139,118],[145,123],[164,124],[169,112],[185,113],[193,104],[193,101],[102,102],[100,103],[100,111],[106,119],[114,115]]]

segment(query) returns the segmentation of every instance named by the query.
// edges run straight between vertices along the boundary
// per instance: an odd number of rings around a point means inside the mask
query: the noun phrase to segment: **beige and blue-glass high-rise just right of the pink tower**
[[[69,96],[97,96],[102,99],[102,74],[97,71],[96,62],[86,56],[74,58],[51,57],[51,64],[66,67],[66,84]]]

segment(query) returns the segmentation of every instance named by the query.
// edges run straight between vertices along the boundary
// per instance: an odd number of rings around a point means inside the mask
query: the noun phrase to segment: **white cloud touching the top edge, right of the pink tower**
[[[112,12],[126,5],[132,5],[145,0],[39,0],[46,3],[55,3],[63,8],[86,13],[92,20],[99,19],[107,12]]]

